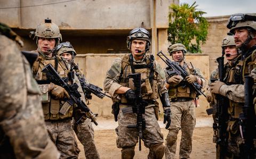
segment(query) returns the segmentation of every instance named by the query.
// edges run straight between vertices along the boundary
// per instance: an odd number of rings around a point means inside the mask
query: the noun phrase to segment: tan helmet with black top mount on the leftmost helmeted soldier
[[[59,44],[59,42],[62,40],[60,29],[59,27],[52,23],[52,20],[47,18],[44,20],[44,23],[39,24],[36,27],[36,31],[30,31],[29,33],[30,38],[54,38],[56,40],[56,44]]]

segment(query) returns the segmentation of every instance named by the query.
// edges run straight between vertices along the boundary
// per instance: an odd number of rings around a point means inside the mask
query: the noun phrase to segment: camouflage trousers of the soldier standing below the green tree
[[[196,124],[194,100],[188,102],[171,102],[171,125],[166,137],[165,158],[174,158],[177,135],[181,129],[180,158],[190,158],[192,136]]]

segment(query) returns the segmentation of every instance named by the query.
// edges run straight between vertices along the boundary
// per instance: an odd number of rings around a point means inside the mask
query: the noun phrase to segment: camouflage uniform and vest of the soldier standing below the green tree
[[[203,74],[199,69],[190,71],[185,63],[186,70],[189,74],[199,77],[203,82],[203,87],[206,84]],[[166,72],[166,70],[165,70]],[[165,73],[166,80],[170,77]],[[166,137],[165,157],[174,158],[177,146],[177,135],[181,130],[180,141],[180,158],[189,158],[192,150],[192,136],[196,124],[195,102],[196,95],[190,92],[188,87],[170,86],[169,98],[171,102],[172,123],[169,128],[169,133]]]

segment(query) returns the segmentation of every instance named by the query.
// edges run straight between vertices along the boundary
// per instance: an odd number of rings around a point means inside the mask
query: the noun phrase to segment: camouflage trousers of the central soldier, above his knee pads
[[[146,130],[143,130],[143,142],[146,147],[163,143],[163,133],[157,123],[153,107],[148,107],[143,114],[146,120]],[[127,128],[128,125],[137,124],[137,114],[123,114],[122,108],[118,114],[118,128],[116,144],[118,148],[135,146],[138,143],[138,129]]]

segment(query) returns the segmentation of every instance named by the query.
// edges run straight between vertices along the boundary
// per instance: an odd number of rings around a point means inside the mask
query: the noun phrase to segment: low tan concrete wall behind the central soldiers
[[[103,88],[103,81],[106,77],[106,72],[110,68],[114,58],[120,56],[120,54],[84,54],[77,55],[75,62],[78,63],[79,68],[84,72],[85,77],[90,83]],[[168,56],[170,59],[171,57]],[[165,63],[162,60],[157,60],[158,63],[165,68]],[[205,75],[205,78],[209,78],[209,56],[205,54],[188,54],[186,55],[186,62],[193,63],[196,68],[199,68]],[[161,103],[161,102],[160,102]],[[208,107],[206,99],[199,97],[200,107],[196,108],[197,116],[204,116],[206,114],[205,109]],[[93,99],[89,107],[94,113],[98,113],[100,116],[113,116],[111,114],[112,101],[110,98],[105,97],[103,99],[93,95]],[[161,112],[162,106],[160,106]]]

